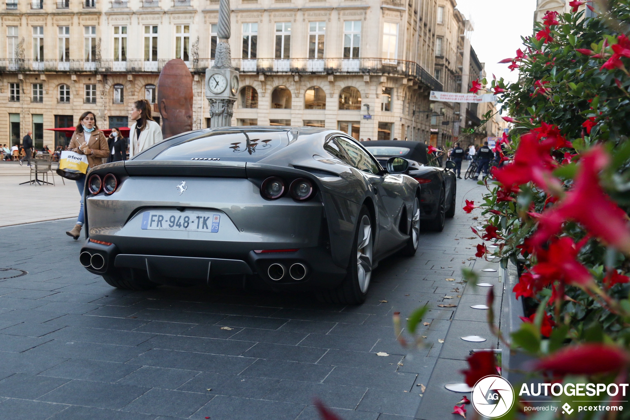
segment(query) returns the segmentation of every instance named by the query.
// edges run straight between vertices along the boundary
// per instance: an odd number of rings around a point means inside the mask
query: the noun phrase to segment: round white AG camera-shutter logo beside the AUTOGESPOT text
[[[488,375],[474,384],[471,402],[481,416],[495,419],[506,414],[514,405],[514,389],[498,375]]]

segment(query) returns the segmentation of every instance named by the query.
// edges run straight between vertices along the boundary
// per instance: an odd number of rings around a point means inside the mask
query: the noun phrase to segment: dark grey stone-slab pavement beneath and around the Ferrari
[[[358,307],[229,288],[117,290],[79,264],[81,241],[64,233],[74,220],[1,228],[0,266],[28,274],[0,280],[0,418],[310,420],[319,397],[346,420],[413,419],[416,384],[444,358],[462,363],[461,343],[445,354],[449,326],[483,321],[484,311],[454,319],[457,307],[438,307],[482,303],[453,292],[478,243],[460,203],[482,192],[460,180],[444,232],[424,234],[413,258],[382,261]],[[425,303],[430,347],[404,349],[392,313]]]

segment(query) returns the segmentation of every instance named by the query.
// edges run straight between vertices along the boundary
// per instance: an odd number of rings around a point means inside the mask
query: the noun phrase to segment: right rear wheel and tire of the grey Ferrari
[[[341,285],[333,290],[318,292],[318,300],[328,304],[360,305],[367,298],[367,291],[372,278],[372,251],[374,230],[370,212],[364,205],[358,214],[355,239],[352,242],[348,273]]]

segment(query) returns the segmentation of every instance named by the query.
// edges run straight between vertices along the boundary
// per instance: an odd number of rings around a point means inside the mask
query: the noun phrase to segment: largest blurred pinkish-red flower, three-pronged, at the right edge
[[[626,212],[610,200],[599,184],[598,174],[609,160],[601,145],[596,145],[580,158],[573,188],[554,207],[542,213],[533,237],[535,246],[558,233],[566,220],[573,220],[583,225],[593,236],[617,249],[630,252]]]

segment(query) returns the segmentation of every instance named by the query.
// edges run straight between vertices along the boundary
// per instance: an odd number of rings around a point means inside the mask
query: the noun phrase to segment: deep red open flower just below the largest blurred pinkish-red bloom
[[[587,268],[576,260],[580,248],[573,239],[563,236],[549,244],[549,249],[536,249],[538,264],[532,271],[541,275],[548,283],[564,281],[576,286],[586,286],[593,280]]]

